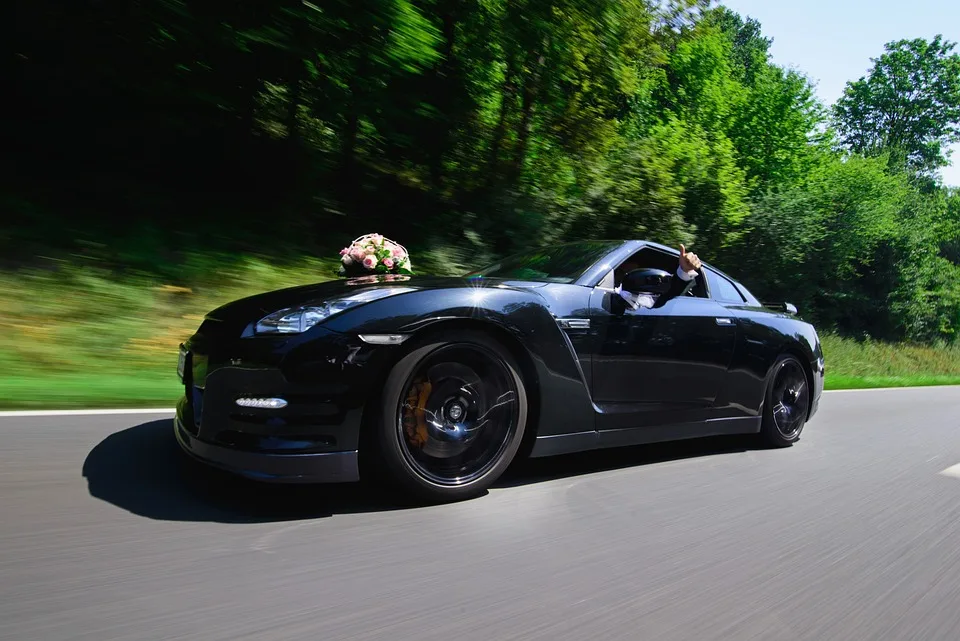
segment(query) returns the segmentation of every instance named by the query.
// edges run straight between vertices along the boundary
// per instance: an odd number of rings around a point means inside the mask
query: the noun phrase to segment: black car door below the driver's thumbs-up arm
[[[632,309],[615,292],[594,290],[592,393],[603,410],[599,429],[708,417],[733,358],[737,319],[705,296]]]

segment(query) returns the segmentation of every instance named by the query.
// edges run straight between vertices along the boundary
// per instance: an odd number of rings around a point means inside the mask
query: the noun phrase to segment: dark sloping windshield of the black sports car
[[[508,256],[483,269],[470,272],[467,278],[516,278],[551,283],[572,283],[591,265],[620,243],[584,241]]]

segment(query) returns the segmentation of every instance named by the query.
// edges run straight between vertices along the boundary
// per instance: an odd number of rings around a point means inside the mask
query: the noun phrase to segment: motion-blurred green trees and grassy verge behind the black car
[[[828,387],[960,382],[960,56],[824,104],[715,2],[15,0],[0,406],[168,406],[211,308],[568,239],[677,244],[817,324]],[[811,43],[811,46],[815,46]]]

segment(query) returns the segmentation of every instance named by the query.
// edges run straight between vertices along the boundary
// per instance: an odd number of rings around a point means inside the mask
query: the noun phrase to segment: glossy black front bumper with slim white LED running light
[[[311,340],[245,340],[206,324],[182,347],[174,433],[195,459],[286,483],[359,480],[364,410],[386,349],[316,331]],[[276,407],[247,406],[276,398]]]

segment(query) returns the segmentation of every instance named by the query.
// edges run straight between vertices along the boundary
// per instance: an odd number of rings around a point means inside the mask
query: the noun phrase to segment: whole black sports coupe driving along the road
[[[176,438],[255,479],[383,474],[434,501],[482,493],[519,456],[737,433],[795,442],[823,390],[816,330],[706,263],[681,282],[678,256],[585,241],[462,278],[235,301],[181,346]]]

